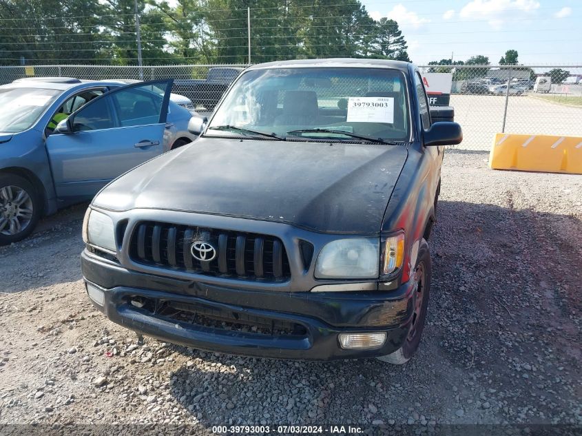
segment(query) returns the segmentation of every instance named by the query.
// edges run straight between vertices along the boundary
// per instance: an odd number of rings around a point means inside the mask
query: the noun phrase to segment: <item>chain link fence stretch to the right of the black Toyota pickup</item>
[[[464,136],[459,148],[488,150],[499,132],[582,136],[581,65],[420,69],[452,76],[450,105]]]

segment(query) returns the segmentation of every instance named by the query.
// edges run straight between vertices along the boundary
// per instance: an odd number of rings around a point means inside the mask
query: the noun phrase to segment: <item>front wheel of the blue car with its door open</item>
[[[30,235],[41,209],[39,194],[28,180],[14,174],[0,175],[0,245]]]

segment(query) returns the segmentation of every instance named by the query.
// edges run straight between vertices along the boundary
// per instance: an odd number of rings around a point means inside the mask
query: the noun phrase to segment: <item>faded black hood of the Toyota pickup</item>
[[[93,204],[376,234],[407,156],[404,145],[202,137],[117,178]]]

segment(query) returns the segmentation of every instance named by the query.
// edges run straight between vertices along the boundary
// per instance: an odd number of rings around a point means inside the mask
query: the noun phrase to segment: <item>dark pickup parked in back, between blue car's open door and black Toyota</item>
[[[172,91],[187,96],[196,107],[211,112],[229,85],[245,70],[242,67],[214,67],[208,70],[206,79],[175,79]]]

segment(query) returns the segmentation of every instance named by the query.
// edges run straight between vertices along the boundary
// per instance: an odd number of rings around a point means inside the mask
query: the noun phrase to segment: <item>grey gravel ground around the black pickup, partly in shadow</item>
[[[582,424],[582,177],[449,151],[416,357],[285,362],[145,339],[80,280],[86,205],[0,247],[0,424]]]

